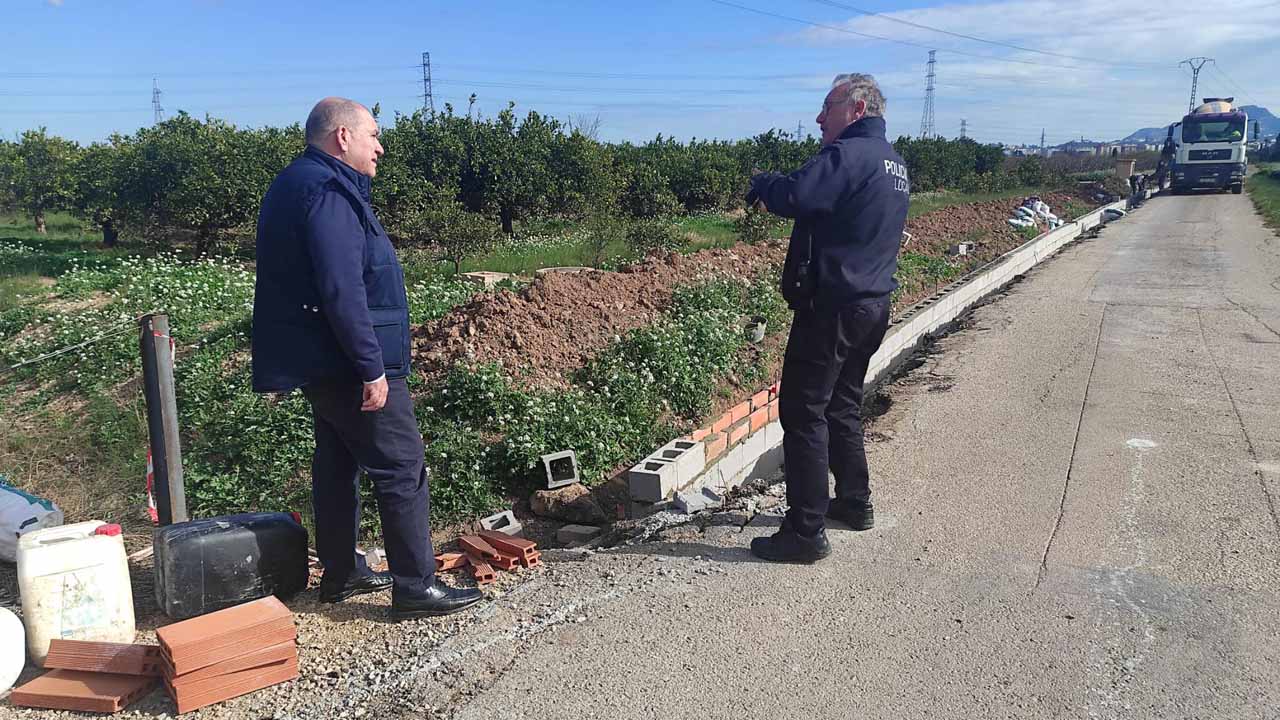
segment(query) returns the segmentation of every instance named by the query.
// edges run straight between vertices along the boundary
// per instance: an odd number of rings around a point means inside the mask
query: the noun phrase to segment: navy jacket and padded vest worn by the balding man
[[[308,146],[257,218],[253,389],[399,378],[408,365],[404,273],[369,178]]]

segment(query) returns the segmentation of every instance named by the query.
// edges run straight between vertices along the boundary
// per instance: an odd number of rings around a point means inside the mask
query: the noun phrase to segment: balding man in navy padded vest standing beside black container
[[[396,618],[448,615],[483,596],[435,579],[422,436],[406,383],[404,274],[369,205],[383,156],[378,122],[358,102],[326,97],[306,140],[259,215],[253,389],[302,388],[311,402],[320,601],[390,589]],[[390,573],[374,573],[356,552],[361,471],[378,496]]]

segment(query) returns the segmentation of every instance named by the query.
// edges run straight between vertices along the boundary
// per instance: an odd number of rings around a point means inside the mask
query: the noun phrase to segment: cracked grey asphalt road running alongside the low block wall
[[[561,564],[558,619],[458,646],[449,711],[1280,717],[1277,380],[1280,238],[1155,199],[888,388],[877,529],[812,568],[753,561],[759,521]]]

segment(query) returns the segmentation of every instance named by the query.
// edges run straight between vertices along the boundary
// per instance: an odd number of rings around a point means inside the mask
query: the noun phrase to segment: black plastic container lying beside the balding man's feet
[[[307,530],[287,512],[191,520],[155,533],[156,605],[182,620],[307,587]]]

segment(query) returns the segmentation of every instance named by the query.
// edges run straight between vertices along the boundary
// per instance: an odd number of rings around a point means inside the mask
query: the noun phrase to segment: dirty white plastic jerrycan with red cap
[[[133,642],[133,588],[119,525],[96,520],[18,538],[18,587],[32,662],[54,639]]]

